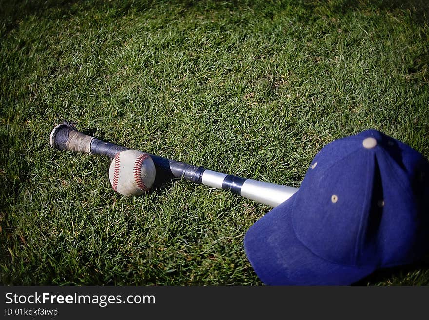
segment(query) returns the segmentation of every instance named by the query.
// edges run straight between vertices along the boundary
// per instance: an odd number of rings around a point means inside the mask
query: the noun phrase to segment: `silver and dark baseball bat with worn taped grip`
[[[110,159],[113,159],[117,152],[130,149],[79,132],[76,123],[67,120],[54,127],[49,137],[49,143],[51,147],[59,150],[100,154],[108,156]],[[229,190],[234,194],[271,207],[276,207],[286,201],[298,190],[298,188],[290,186],[216,172],[153,154],[150,156],[156,170],[154,185],[162,184],[174,178],[184,179],[217,189]]]

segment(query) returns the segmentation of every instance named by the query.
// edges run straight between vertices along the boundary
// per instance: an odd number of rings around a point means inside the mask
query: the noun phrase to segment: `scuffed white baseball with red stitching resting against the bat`
[[[152,188],[155,165],[147,153],[130,149],[118,152],[110,163],[112,188],[122,195],[140,195]]]

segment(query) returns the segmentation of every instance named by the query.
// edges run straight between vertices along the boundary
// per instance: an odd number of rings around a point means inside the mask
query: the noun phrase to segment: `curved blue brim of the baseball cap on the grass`
[[[299,191],[298,191],[299,192]],[[254,271],[267,285],[349,285],[374,267],[334,264],[316,256],[297,237],[291,222],[296,193],[249,228],[244,249]]]

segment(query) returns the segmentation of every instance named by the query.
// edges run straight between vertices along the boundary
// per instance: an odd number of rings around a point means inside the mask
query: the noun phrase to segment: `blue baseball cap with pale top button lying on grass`
[[[267,285],[349,285],[416,262],[429,251],[429,163],[377,130],[335,140],[244,249]]]

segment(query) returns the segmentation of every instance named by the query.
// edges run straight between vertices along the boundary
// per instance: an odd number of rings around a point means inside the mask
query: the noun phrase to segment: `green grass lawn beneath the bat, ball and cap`
[[[0,282],[262,284],[243,238],[269,207],[185,181],[122,197],[107,158],[49,147],[53,126],[295,187],[368,128],[429,158],[427,3],[1,0]]]

